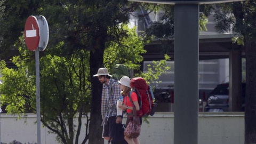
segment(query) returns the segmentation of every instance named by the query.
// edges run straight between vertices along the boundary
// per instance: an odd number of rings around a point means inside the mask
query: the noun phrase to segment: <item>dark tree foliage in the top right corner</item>
[[[239,34],[233,38],[238,44],[246,41],[254,41],[256,37],[256,20],[255,20],[255,1],[243,1],[234,3],[223,3],[215,5],[214,19],[217,21],[215,28],[220,33],[233,31],[234,34]]]

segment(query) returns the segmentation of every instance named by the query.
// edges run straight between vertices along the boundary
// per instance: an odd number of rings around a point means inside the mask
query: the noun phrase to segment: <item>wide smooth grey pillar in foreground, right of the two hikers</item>
[[[175,4],[174,144],[196,144],[199,5]]]

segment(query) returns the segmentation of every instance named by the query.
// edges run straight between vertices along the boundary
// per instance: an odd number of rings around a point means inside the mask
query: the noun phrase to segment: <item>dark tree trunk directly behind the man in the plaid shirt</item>
[[[91,116],[89,125],[89,144],[101,144],[102,138],[102,118],[101,118],[101,92],[102,84],[98,81],[97,77],[93,75],[97,74],[98,69],[103,67],[103,53],[105,50],[105,38],[95,39],[94,46],[95,51],[90,52],[90,75],[92,84],[92,100],[91,100]]]

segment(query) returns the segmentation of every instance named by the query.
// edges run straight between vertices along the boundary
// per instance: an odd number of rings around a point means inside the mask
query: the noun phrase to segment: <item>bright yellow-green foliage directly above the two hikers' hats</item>
[[[119,42],[110,42],[104,53],[104,66],[114,67],[118,63],[126,65],[130,69],[139,69],[143,60],[141,54],[146,53],[142,37],[138,37],[135,27],[129,29],[127,25],[121,25],[127,31],[127,37],[119,39]]]

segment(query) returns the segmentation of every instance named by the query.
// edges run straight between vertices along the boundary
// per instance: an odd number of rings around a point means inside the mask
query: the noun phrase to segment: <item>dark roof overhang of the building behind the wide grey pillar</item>
[[[241,50],[242,57],[245,57],[245,50],[242,45],[234,43],[231,38],[234,34],[214,34],[199,36],[199,60],[229,58],[229,52]],[[157,40],[145,45],[147,50],[143,54],[145,61],[161,60],[164,54],[168,54],[171,60],[174,59],[174,39]]]

